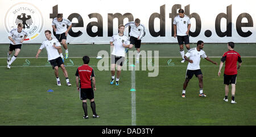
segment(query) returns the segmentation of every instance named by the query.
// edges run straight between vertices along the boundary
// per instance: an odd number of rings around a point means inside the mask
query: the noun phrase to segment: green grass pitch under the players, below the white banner
[[[61,86],[56,85],[52,68],[46,66],[46,49],[43,49],[39,59],[35,59],[39,47],[40,44],[24,44],[11,69],[7,69],[9,45],[0,45],[0,125],[131,125],[131,71],[122,71],[119,86],[115,86],[109,84],[110,70],[100,71],[97,68],[97,53],[101,50],[109,52],[109,45],[68,45],[69,59],[73,61],[73,66],[66,67],[72,84],[70,87],[65,85],[61,70]],[[196,45],[191,44],[191,47]],[[201,59],[206,98],[199,97],[199,83],[195,76],[188,84],[187,98],[181,98],[187,62],[180,63],[179,46],[142,44],[141,49],[159,51],[159,74],[148,77],[152,71],[135,71],[136,125],[256,124],[255,44],[236,44],[235,47],[243,61],[237,75],[236,105],[230,104],[231,89],[229,102],[223,101],[223,76],[217,76],[218,65]],[[226,44],[206,43],[204,51],[219,64],[227,47]],[[89,65],[96,74],[97,91],[94,97],[96,111],[101,116],[97,119],[92,118],[90,103],[89,119],[82,119],[82,102],[76,91],[75,72],[82,65],[81,57],[84,55],[91,57]],[[30,66],[23,66],[26,59],[30,61]],[[69,59],[65,59],[65,65],[70,63]],[[175,65],[167,64],[170,59]],[[53,92],[47,92],[49,89]]]

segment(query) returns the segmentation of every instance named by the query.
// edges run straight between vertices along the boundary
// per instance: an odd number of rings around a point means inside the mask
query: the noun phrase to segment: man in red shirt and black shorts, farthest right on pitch
[[[231,103],[237,103],[234,99],[234,95],[236,92],[236,84],[237,84],[237,70],[240,69],[242,65],[241,56],[238,52],[234,51],[234,43],[228,43],[228,52],[225,52],[221,58],[220,68],[218,69],[218,76],[220,77],[221,68],[223,63],[225,63],[225,70],[224,70],[224,84],[225,84],[225,98],[224,101],[228,102],[228,94],[229,94],[229,84],[231,84]],[[238,61],[238,67],[237,67]]]

